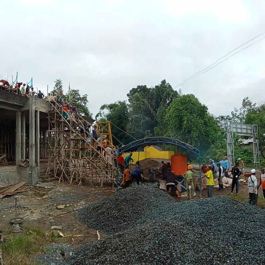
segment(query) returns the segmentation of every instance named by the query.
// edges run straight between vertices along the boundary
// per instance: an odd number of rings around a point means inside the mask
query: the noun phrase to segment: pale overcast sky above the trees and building
[[[1,1],[3,78],[88,94],[89,110],[137,85],[173,87],[265,31],[265,1]],[[181,86],[210,113],[263,100],[265,39]]]

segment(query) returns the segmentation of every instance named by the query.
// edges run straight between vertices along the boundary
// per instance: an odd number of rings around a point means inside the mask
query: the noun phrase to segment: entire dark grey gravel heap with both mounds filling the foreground
[[[165,192],[139,186],[78,214],[110,233],[75,250],[66,265],[265,264],[264,210],[229,197],[175,203]]]

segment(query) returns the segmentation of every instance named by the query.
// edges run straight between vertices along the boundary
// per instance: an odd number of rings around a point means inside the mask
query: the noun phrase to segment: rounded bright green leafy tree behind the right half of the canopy
[[[221,129],[214,117],[193,94],[173,99],[165,117],[167,135],[201,150],[207,150],[220,137]]]

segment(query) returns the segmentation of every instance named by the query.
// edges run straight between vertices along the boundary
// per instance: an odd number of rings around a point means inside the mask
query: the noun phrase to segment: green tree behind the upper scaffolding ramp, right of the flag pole
[[[88,109],[88,95],[80,95],[80,92],[78,89],[71,89],[71,102],[68,102],[69,104],[74,103],[77,109],[77,112],[81,115],[84,115],[86,117],[92,118],[92,113]],[[64,96],[64,99],[68,101],[69,98],[69,91]]]

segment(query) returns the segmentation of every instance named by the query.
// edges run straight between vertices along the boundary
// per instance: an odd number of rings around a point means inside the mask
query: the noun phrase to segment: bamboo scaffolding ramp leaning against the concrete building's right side
[[[80,119],[81,116],[78,115],[77,118]],[[101,147],[101,152],[97,151],[93,146],[97,141],[92,135],[87,142],[84,135],[80,134],[80,130],[72,126],[72,122],[68,123],[63,118],[61,107],[57,103],[53,110],[49,111],[48,120],[46,175],[50,173],[58,178],[58,182],[68,181],[70,184],[86,183],[91,186],[100,185],[100,187],[116,185],[117,165],[113,162],[112,169],[106,169],[108,163],[102,151],[105,153],[108,151],[104,147]],[[101,135],[99,132],[98,134]],[[107,144],[113,147],[108,140]],[[119,181],[121,186],[124,182],[120,170],[118,174],[121,177]]]

